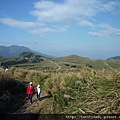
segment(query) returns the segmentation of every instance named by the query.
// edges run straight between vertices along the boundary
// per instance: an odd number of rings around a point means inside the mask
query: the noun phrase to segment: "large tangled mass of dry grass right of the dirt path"
[[[93,71],[52,74],[45,87],[53,94],[54,114],[119,114],[120,73]]]

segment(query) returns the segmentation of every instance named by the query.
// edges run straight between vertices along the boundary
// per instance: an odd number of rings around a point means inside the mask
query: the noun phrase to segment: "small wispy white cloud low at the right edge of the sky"
[[[120,29],[113,28],[109,24],[102,23],[98,25],[98,28],[100,29],[97,32],[89,32],[90,35],[93,36],[99,36],[99,37],[109,37],[114,35],[120,35]]]

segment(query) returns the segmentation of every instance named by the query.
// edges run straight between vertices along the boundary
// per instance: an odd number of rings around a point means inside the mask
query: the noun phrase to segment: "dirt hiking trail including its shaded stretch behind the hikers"
[[[28,83],[22,82],[18,79],[16,79],[19,84],[25,85],[26,89],[28,86]],[[50,98],[51,94],[48,94],[46,91],[41,90],[40,94],[40,101],[37,100],[36,93],[33,95],[33,103],[30,104],[28,100],[28,95],[26,94],[26,100],[25,103],[20,106],[15,112],[12,114],[40,114],[42,110],[42,105],[47,100],[47,98]]]

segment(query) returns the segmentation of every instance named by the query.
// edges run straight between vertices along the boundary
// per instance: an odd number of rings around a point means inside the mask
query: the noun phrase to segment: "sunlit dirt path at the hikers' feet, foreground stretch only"
[[[36,95],[34,95],[32,104],[30,104],[28,100],[23,106],[21,106],[13,114],[40,114],[42,110],[42,105],[49,97],[50,96],[45,91],[42,91],[40,101],[38,101],[36,99]]]

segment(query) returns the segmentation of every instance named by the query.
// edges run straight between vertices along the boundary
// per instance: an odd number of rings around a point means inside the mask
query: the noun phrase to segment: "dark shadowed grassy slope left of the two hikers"
[[[0,70],[0,113],[15,111],[25,101],[25,86]]]

